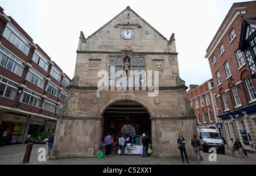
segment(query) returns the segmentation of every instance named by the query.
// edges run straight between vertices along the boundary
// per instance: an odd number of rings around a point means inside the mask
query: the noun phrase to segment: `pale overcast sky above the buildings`
[[[189,87],[212,78],[206,50],[233,3],[247,1],[0,0],[0,6],[71,79],[80,31],[88,37],[130,6],[168,40],[175,33],[180,78]]]

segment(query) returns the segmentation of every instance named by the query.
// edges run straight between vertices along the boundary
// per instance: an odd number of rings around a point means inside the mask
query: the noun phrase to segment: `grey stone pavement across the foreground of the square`
[[[152,159],[150,157],[143,158],[140,155],[121,156],[113,154],[112,157],[106,158],[63,158],[59,160],[38,161],[38,156],[42,152],[38,152],[39,148],[45,148],[48,153],[48,147],[45,144],[34,144],[31,152],[30,162],[22,163],[27,144],[16,144],[0,146],[0,165],[188,165],[186,162],[181,163],[181,159]],[[240,158],[236,152],[237,158],[233,158],[229,149],[225,150],[225,154],[218,154],[217,161],[209,161],[210,153],[201,152],[203,161],[201,165],[255,165],[256,154],[247,153],[248,156]],[[197,165],[195,160],[189,160],[189,165]]]

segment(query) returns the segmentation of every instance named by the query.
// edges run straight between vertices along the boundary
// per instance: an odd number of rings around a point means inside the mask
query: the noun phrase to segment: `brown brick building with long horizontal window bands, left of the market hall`
[[[0,145],[55,131],[71,79],[0,7]]]

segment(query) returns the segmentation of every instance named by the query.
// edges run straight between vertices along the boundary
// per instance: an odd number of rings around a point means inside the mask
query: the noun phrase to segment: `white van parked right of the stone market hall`
[[[210,148],[215,148],[217,152],[225,154],[224,142],[216,129],[197,128],[197,134],[203,148],[203,152],[208,152]]]

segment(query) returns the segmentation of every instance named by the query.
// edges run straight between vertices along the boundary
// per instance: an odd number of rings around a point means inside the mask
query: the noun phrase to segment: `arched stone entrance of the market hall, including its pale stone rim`
[[[119,136],[121,128],[126,124],[133,125],[136,134],[142,135],[146,132],[154,140],[151,123],[154,110],[143,99],[132,95],[120,95],[103,104],[97,111],[97,116],[100,117],[100,130],[97,130],[98,135],[96,136],[99,138],[96,143],[100,143],[108,132],[114,136]]]

